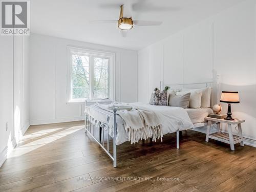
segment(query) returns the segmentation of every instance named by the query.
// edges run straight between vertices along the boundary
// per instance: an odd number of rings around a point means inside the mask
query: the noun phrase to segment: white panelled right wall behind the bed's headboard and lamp
[[[160,81],[200,83],[218,75],[219,96],[222,90],[239,91],[233,117],[245,119],[246,143],[256,146],[255,15],[255,1],[248,0],[140,50],[139,101],[148,102]]]

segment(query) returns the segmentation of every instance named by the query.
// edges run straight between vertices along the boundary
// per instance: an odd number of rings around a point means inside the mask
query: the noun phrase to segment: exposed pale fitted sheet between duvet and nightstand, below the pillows
[[[207,122],[204,118],[209,114],[214,113],[210,108],[200,108],[200,109],[186,109],[187,114],[193,124]]]

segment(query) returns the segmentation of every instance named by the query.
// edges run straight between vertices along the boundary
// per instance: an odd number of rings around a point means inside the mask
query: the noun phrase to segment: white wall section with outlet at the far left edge
[[[13,37],[0,36],[0,166],[13,139]],[[8,130],[6,131],[6,122]]]

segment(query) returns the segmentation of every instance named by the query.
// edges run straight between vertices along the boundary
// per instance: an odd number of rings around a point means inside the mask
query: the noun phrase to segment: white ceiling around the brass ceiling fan
[[[31,32],[126,49],[143,47],[176,33],[243,0],[31,0]],[[133,19],[162,21],[161,26],[135,26],[120,35],[117,24],[92,24],[118,19],[119,6],[135,4]]]

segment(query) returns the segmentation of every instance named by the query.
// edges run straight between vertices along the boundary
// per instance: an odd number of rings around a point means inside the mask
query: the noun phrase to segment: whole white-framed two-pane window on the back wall
[[[114,54],[70,48],[68,101],[113,98]]]

